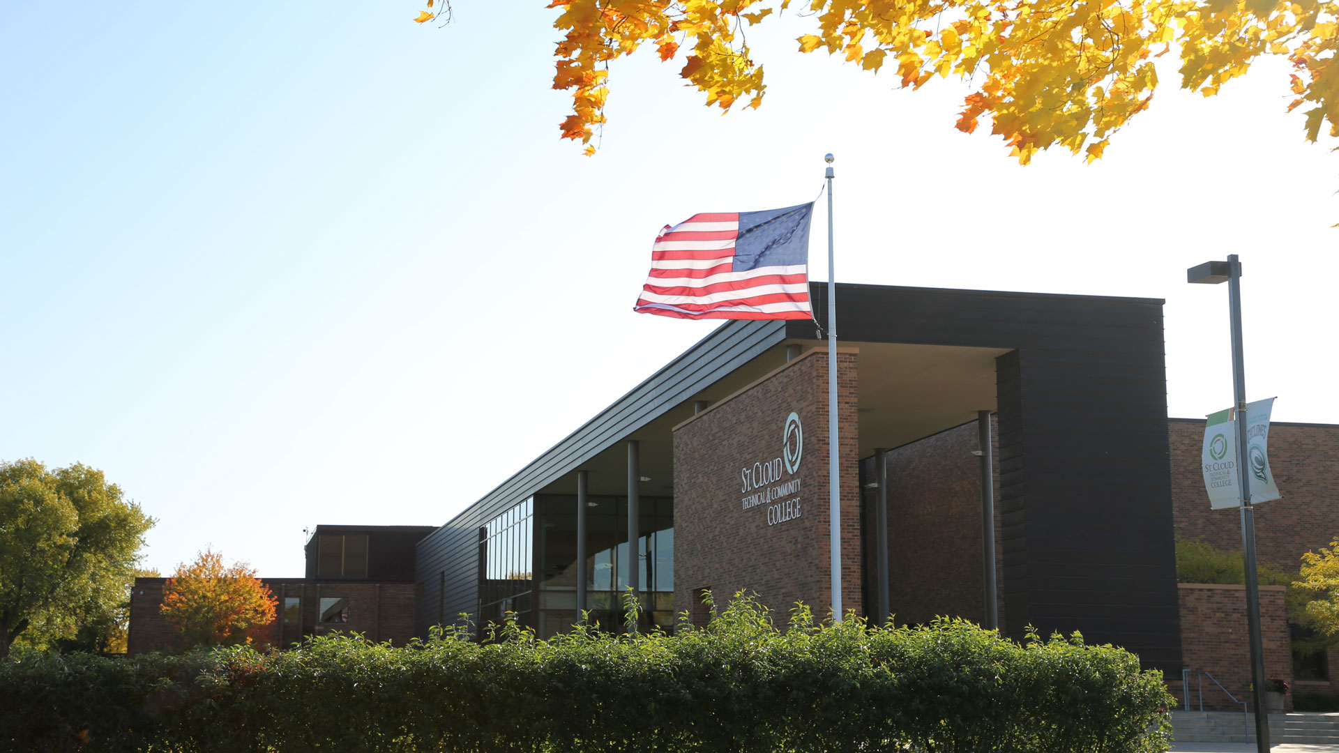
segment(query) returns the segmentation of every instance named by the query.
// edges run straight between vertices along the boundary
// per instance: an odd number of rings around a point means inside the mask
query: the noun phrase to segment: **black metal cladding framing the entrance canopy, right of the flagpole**
[[[996,359],[1004,631],[1180,671],[1162,301],[838,285],[837,316],[848,342],[1016,348]]]

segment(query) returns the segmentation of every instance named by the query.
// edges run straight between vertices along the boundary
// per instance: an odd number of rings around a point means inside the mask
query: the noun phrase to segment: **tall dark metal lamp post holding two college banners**
[[[1251,509],[1251,476],[1247,473],[1247,379],[1241,348],[1241,263],[1237,255],[1227,261],[1205,261],[1186,269],[1188,283],[1216,285],[1228,283],[1232,316],[1232,389],[1236,394],[1237,484],[1241,489],[1241,549],[1247,575],[1247,628],[1251,631],[1251,697],[1255,701],[1256,750],[1269,753],[1269,717],[1264,709],[1264,642],[1260,638],[1260,584],[1256,581],[1255,515]],[[1181,689],[1182,693],[1186,689]]]

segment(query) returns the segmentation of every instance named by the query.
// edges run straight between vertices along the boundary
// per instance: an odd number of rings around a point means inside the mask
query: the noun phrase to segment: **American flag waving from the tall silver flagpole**
[[[679,319],[811,319],[813,204],[694,214],[665,225],[633,311]]]

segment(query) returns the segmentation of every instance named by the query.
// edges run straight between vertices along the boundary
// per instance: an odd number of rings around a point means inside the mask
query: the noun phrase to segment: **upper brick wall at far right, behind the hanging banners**
[[[1218,549],[1240,552],[1241,513],[1209,509],[1204,490],[1204,421],[1174,419],[1168,437],[1177,539],[1202,537]],[[1256,557],[1296,572],[1303,552],[1339,537],[1339,426],[1271,425],[1269,469],[1283,498],[1255,508]]]

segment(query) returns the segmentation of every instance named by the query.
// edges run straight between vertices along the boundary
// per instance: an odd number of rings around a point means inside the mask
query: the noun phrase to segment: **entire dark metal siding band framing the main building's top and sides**
[[[815,314],[826,295],[814,285]],[[1081,630],[1180,670],[1162,301],[838,285],[842,342],[996,359],[1004,630]],[[811,322],[731,322],[418,544],[420,634],[477,607],[478,527]],[[439,573],[445,583],[439,587]]]

